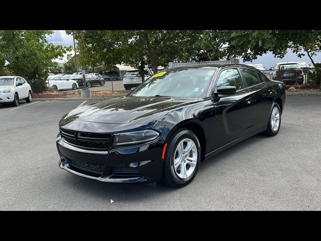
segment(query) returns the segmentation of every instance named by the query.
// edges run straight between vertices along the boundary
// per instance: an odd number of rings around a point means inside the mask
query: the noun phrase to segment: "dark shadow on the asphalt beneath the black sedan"
[[[253,143],[264,142],[266,139],[264,134],[257,134],[239,144],[233,146],[233,148],[226,149],[221,153],[215,155],[210,160],[202,162],[199,168],[198,175],[202,175],[202,172],[220,162],[222,157],[233,155],[237,152],[241,152],[245,146],[249,146]],[[215,175],[215,173],[213,173]],[[61,180],[65,188],[75,190],[77,192],[83,192],[84,195],[92,196],[93,198],[104,199],[110,198],[121,202],[131,201],[146,201],[154,196],[159,196],[165,193],[183,191],[188,189],[190,185],[194,185],[193,182],[183,188],[174,188],[168,186],[162,182],[157,184],[122,184],[122,183],[104,183],[96,180],[76,176],[70,173],[64,175],[65,179]],[[195,182],[196,180],[194,180]],[[67,186],[67,187],[66,187]]]

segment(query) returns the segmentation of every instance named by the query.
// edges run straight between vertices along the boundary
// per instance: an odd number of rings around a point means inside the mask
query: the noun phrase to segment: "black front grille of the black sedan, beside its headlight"
[[[112,143],[111,134],[75,132],[60,129],[62,140],[79,147],[89,149],[107,149]]]

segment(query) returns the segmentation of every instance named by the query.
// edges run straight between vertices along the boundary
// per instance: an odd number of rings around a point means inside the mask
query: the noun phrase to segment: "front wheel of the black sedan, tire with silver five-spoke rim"
[[[183,187],[197,174],[201,162],[201,145],[190,130],[180,129],[171,137],[164,159],[163,182]]]

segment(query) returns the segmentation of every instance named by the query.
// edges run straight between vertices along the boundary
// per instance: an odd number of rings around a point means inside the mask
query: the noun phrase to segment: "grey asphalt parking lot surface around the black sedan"
[[[321,209],[321,97],[287,97],[276,137],[258,134],[223,151],[180,189],[102,183],[60,169],[58,122],[82,102],[0,105],[0,210]]]

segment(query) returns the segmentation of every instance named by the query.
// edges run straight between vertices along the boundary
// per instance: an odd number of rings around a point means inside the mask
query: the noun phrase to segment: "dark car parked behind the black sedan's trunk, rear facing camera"
[[[279,80],[286,83],[303,83],[303,71],[298,63],[284,62],[274,65],[270,72],[271,80]]]

